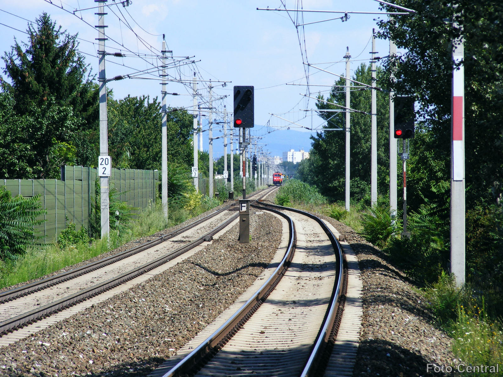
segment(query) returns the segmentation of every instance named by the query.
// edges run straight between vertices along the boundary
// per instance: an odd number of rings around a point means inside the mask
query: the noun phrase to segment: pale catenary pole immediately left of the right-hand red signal
[[[389,41],[389,57],[393,59],[396,56],[396,45]],[[393,70],[391,70],[391,81],[395,80]],[[391,219],[395,219],[398,210],[397,204],[397,179],[396,179],[396,139],[395,139],[395,92],[389,92],[389,208]]]

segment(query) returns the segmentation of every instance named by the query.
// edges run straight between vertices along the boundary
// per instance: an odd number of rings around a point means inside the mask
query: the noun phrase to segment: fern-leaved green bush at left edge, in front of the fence
[[[46,213],[40,210],[40,195],[25,199],[21,195],[13,198],[5,186],[0,187],[0,258],[17,260],[26,248],[38,237],[35,226],[44,220],[38,216]]]

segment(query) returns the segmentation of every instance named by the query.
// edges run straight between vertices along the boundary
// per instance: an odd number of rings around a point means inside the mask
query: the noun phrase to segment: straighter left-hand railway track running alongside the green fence
[[[250,199],[257,200],[273,190],[265,189]],[[203,219],[132,249],[0,294],[0,334],[4,338],[65,311],[210,241],[238,217],[236,204],[233,202]],[[7,345],[11,340],[0,338],[0,343]]]

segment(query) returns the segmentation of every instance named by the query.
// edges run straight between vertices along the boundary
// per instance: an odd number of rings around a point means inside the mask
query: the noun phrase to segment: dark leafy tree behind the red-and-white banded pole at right
[[[451,165],[451,41],[463,28],[465,74],[465,175],[467,280],[491,292],[486,303],[503,300],[503,4],[489,0],[421,2],[399,0],[417,13],[380,21],[379,36],[393,39],[405,53],[386,63],[399,79],[395,90],[420,104],[418,131],[411,141],[407,204],[414,211],[435,208],[449,259]],[[384,6],[386,8],[386,6]],[[390,10],[390,9],[388,9]],[[460,16],[455,16],[462,10]],[[389,83],[391,86],[392,83]]]

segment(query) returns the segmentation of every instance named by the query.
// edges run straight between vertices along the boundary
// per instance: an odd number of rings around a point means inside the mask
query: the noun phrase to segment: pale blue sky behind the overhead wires
[[[97,10],[76,12],[78,17],[67,13],[61,6],[68,10],[95,7],[92,0],[52,0],[51,5],[44,0],[18,0],[15,2],[3,1],[0,9],[24,17],[28,20],[35,18],[42,12],[49,13],[59,25],[62,25],[71,34],[78,33],[83,40],[80,41],[79,49],[87,53],[87,61],[93,71],[97,72],[98,58],[95,38],[98,32],[94,28],[97,25]],[[113,1],[109,0],[108,4]],[[287,8],[295,8],[293,0],[286,0]],[[144,70],[155,65],[152,50],[161,49],[162,34],[165,34],[167,46],[173,50],[175,56],[195,56],[197,62],[198,78],[205,80],[232,81],[226,87],[215,87],[214,96],[221,97],[232,93],[233,85],[255,86],[255,122],[256,127],[252,135],[262,136],[260,142],[270,144],[272,155],[281,155],[283,150],[299,147],[306,150],[310,147],[309,136],[311,132],[297,128],[296,125],[288,124],[287,121],[273,117],[270,113],[277,114],[289,121],[298,121],[305,112],[303,109],[312,109],[313,101],[307,101],[300,93],[305,93],[305,86],[285,85],[285,83],[305,83],[305,71],[299,39],[296,29],[286,12],[257,11],[256,8],[279,8],[279,0],[133,0],[127,8],[129,15],[122,6],[110,7],[106,16],[107,34],[112,40],[107,41],[107,51],[123,51],[130,55],[142,57],[116,58],[108,57],[107,77],[124,75],[135,70]],[[375,11],[378,3],[373,0],[353,0],[352,2],[338,0],[304,0],[303,8],[309,10],[332,10],[332,11]],[[119,12],[122,11],[122,15]],[[113,12],[112,12],[113,11]],[[115,14],[114,14],[115,13]],[[290,14],[294,17],[294,14]],[[304,13],[304,23],[326,20],[339,17],[334,14]],[[80,20],[82,17],[89,25]],[[301,35],[301,42],[305,40],[305,50],[309,63],[322,63],[319,66],[342,74],[345,71],[345,63],[342,57],[349,46],[354,59],[352,69],[362,62],[368,62],[371,51],[369,39],[372,28],[376,22],[375,15],[351,15],[348,22],[334,20],[323,23],[306,25],[305,34]],[[381,16],[386,17],[386,16]],[[119,20],[122,19],[122,21]],[[126,22],[133,31],[131,32]],[[17,18],[5,12],[0,12],[0,23],[25,30],[27,21]],[[136,24],[137,23],[137,24]],[[300,22],[299,22],[300,23]],[[0,50],[7,51],[13,44],[14,37],[18,41],[26,41],[26,34],[0,25],[3,38],[0,40]],[[301,30],[301,28],[299,28]],[[149,34],[150,33],[150,34]],[[143,41],[142,41],[143,40]],[[146,47],[143,45],[146,45]],[[120,46],[122,44],[123,46]],[[129,50],[129,51],[128,51]],[[389,42],[376,41],[376,50],[380,56],[388,54]],[[144,54],[144,55],[142,55]],[[338,62],[338,63],[335,63]],[[3,61],[0,62],[3,64]],[[127,67],[126,67],[127,66]],[[130,68],[128,68],[130,67]],[[184,66],[179,74],[182,78],[191,78],[194,70],[193,65]],[[170,72],[174,73],[174,72]],[[309,80],[311,84],[332,84],[336,76],[310,69]],[[178,74],[178,73],[177,73]],[[154,76],[150,75],[150,78]],[[204,86],[200,83],[199,87]],[[131,96],[148,95],[151,98],[159,96],[160,85],[157,80],[149,79],[124,79],[112,81],[109,87],[113,88],[116,98],[122,98],[128,94]],[[327,89],[321,87],[321,89]],[[318,88],[312,88],[316,93]],[[177,107],[192,105],[191,89],[180,83],[170,83],[167,91],[178,92],[183,95],[169,96],[168,104]],[[205,88],[201,95],[207,97]],[[227,109],[232,109],[231,99],[218,101],[215,105],[222,109],[225,104]],[[321,123],[317,117],[313,117],[313,125]],[[290,126],[288,130],[268,133],[275,128],[266,128],[264,125],[274,127]],[[301,119],[297,122],[310,127],[311,118]],[[261,126],[259,126],[261,125]],[[306,132],[301,132],[306,131]],[[219,132],[215,131],[219,136]],[[207,138],[207,133],[205,133]],[[215,156],[223,153],[222,139],[215,140]],[[204,141],[205,149],[208,141]]]

